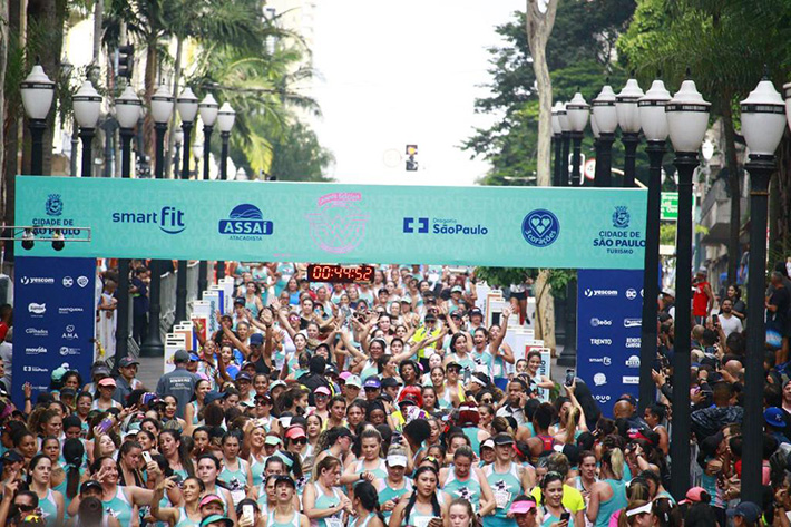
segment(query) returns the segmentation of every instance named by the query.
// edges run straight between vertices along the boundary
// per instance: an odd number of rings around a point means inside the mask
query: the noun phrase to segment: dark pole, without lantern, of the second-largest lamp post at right
[[[673,430],[671,494],[684,499],[690,489],[690,349],[692,321],[692,175],[696,152],[676,152],[678,169],[678,232],[676,234],[675,352],[673,354]]]

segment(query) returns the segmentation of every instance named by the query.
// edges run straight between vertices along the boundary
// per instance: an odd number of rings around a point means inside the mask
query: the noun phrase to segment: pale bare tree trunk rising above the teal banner
[[[547,41],[555,25],[558,0],[527,0],[527,41],[538,87],[537,185],[551,185],[553,85],[547,66]]]

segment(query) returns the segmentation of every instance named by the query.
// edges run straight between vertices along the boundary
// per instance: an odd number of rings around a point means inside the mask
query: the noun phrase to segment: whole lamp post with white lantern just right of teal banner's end
[[[651,372],[656,359],[656,314],[660,296],[660,198],[662,194],[662,158],[667,140],[665,105],[671,100],[664,82],[656,79],[637,103],[639,121],[648,143],[648,199],[645,222],[643,271],[643,321],[639,340],[639,409],[654,402],[656,389]]]

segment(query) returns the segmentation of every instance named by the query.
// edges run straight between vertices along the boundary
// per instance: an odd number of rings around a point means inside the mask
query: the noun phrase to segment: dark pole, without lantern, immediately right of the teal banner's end
[[[645,260],[643,274],[643,321],[639,340],[639,410],[654,402],[656,388],[651,371],[656,359],[656,314],[660,296],[660,197],[662,186],[662,158],[665,141],[650,140],[646,147],[651,162],[648,173],[648,205],[645,222]],[[641,413],[642,414],[642,413]]]

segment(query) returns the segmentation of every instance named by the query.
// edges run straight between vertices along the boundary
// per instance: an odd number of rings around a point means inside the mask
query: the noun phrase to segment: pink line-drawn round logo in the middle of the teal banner
[[[360,209],[361,201],[360,193],[332,193],[319,198],[316,212],[305,216],[319,248],[345,254],[360,245],[369,217]]]

